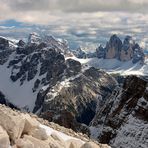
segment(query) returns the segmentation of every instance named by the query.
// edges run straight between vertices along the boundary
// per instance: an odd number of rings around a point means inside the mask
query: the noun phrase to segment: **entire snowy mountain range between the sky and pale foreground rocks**
[[[112,147],[145,148],[147,67],[142,48],[129,36],[122,42],[113,35],[93,54],[36,33],[27,42],[0,37],[0,103]]]

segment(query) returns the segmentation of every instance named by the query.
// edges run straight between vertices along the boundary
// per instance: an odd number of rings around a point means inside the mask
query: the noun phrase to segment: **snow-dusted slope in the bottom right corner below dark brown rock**
[[[113,147],[147,148],[148,123],[129,116],[128,121],[111,141]]]

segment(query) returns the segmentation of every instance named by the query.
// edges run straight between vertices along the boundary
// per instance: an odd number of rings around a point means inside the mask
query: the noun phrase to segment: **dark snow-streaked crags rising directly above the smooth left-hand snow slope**
[[[17,55],[16,58],[9,62],[9,67],[12,67],[11,80],[20,80],[22,85],[25,80],[32,80],[37,73],[40,76],[46,74],[46,81],[51,77],[56,76],[64,70],[64,56],[57,53],[54,49],[43,48],[39,49],[34,44],[30,45],[29,55]],[[28,50],[28,47],[27,47]],[[25,49],[23,50],[23,52]],[[40,69],[40,71],[38,71]],[[40,80],[41,81],[41,80]]]

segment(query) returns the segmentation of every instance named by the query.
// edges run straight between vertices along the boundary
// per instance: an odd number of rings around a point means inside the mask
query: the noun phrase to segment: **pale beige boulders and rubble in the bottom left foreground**
[[[86,141],[42,125],[29,114],[0,105],[0,117],[1,148],[87,148]],[[93,145],[96,148],[110,148],[87,140],[91,143],[90,148]]]

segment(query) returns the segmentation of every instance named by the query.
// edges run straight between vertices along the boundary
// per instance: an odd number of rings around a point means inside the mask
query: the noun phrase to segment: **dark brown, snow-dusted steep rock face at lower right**
[[[114,91],[105,105],[98,110],[92,126],[98,128],[96,133],[98,132],[97,138],[100,142],[110,143],[114,147],[147,146],[146,85],[146,80],[136,76],[127,77],[123,88]]]

